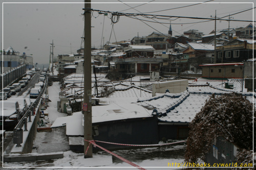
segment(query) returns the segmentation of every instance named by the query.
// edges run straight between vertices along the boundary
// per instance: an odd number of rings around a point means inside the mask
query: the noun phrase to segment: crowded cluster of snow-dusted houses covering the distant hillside
[[[152,32],[149,35],[133,37],[132,40],[107,42],[103,49],[92,51],[92,59],[98,61],[96,72],[116,70],[122,78],[130,74],[150,74],[151,71],[201,72],[200,65],[214,63],[243,62],[252,59],[255,41],[251,34],[255,27],[249,24],[245,28],[222,29],[208,34],[198,30],[184,31],[182,35],[173,35],[172,26],[165,33]],[[215,37],[216,36],[216,37]],[[247,39],[243,38],[247,37]],[[215,47],[216,43],[216,47]],[[83,49],[77,54],[59,55],[59,60],[69,62],[83,59]],[[75,69],[75,66],[68,68]],[[66,73],[75,72],[68,70]],[[81,71],[79,71],[81,72]]]

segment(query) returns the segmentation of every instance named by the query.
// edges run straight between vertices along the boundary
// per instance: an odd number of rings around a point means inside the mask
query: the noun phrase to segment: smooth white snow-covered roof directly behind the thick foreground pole
[[[112,104],[94,106],[92,109],[92,123],[109,122],[130,118],[152,117],[151,113],[137,104]],[[66,135],[83,135],[83,114],[75,112],[72,116],[58,117],[51,128],[66,126]]]

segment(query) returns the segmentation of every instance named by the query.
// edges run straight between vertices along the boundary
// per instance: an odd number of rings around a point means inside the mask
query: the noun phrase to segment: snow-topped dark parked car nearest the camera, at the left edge
[[[4,101],[3,105],[0,105],[0,110],[3,111],[3,114],[0,114],[0,128],[13,130],[21,117],[18,102]]]

